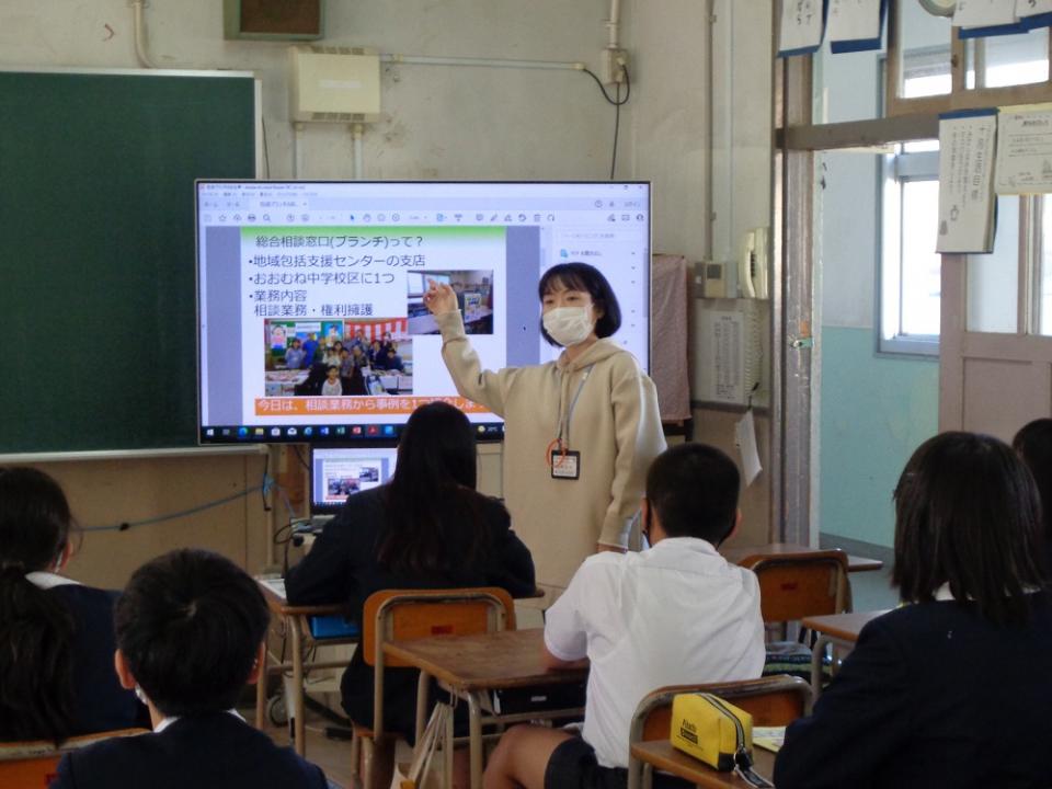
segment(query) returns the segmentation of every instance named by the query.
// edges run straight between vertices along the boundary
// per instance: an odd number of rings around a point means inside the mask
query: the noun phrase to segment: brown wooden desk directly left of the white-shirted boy
[[[563,718],[580,709],[530,711],[483,717],[491,690],[581,682],[586,668],[549,671],[541,663],[545,631],[501,630],[479,636],[436,636],[416,641],[390,641],[384,652],[421,671],[421,683],[434,677],[450,694],[468,702],[471,787],[482,786],[482,724],[513,723],[545,717]],[[416,710],[418,739],[423,730],[423,710]]]

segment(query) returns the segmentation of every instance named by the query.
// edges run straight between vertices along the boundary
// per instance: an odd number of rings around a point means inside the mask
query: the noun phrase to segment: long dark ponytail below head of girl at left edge
[[[0,737],[61,742],[73,728],[73,620],[61,601],[0,568]]]

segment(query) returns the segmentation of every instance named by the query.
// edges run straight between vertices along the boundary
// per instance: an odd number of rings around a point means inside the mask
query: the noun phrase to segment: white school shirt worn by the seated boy
[[[596,553],[548,609],[545,644],[560,660],[588,658],[582,735],[602,766],[627,767],[632,713],[651,690],[761,675],[759,584],[694,537]]]

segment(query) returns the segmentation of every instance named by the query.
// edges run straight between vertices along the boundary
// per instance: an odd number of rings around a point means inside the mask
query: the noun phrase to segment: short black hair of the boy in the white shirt
[[[719,546],[737,522],[737,466],[707,444],[678,444],[647,472],[647,501],[668,537],[699,537]]]

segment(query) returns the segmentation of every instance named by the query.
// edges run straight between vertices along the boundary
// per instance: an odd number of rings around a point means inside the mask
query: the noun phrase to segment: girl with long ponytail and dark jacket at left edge
[[[72,517],[58,483],[0,469],[0,740],[146,725],[113,673],[115,592],[61,575]]]

